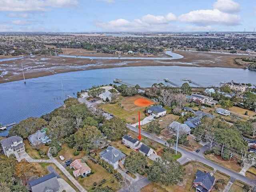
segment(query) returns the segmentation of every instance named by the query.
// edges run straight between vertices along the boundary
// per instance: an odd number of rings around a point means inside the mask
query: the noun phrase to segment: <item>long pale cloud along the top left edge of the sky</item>
[[[0,11],[46,12],[49,8],[72,8],[77,0],[1,0]]]

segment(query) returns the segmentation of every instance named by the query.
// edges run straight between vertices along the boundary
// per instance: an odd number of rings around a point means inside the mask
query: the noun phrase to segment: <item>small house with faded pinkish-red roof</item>
[[[91,172],[91,168],[82,159],[76,159],[70,164],[70,168],[74,168],[73,175],[78,177],[82,175],[86,177],[86,174]]]

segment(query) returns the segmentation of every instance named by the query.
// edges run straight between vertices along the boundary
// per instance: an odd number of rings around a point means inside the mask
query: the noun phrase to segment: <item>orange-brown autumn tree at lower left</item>
[[[29,163],[26,159],[22,159],[16,164],[14,174],[19,178],[25,176],[27,182],[28,178],[32,175],[37,175],[38,171],[33,163]]]

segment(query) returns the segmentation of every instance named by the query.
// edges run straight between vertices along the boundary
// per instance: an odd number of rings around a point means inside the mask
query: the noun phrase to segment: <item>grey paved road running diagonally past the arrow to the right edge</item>
[[[129,124],[127,124],[127,127],[130,129],[130,130],[133,130],[135,132],[138,132],[138,129],[134,126],[131,126]],[[161,139],[161,138],[158,138],[158,137],[155,137],[155,136],[152,136],[151,134],[145,132],[145,131],[142,131],[141,130],[141,134],[148,137],[148,138],[151,138],[153,140],[155,140],[156,142],[159,142],[161,144],[164,144],[166,146],[168,146],[168,144],[166,144],[166,141]],[[229,170],[225,167],[222,167],[210,160],[207,160],[206,158],[204,158],[204,155],[202,154],[203,153],[203,149],[206,148],[207,146],[203,146],[202,150],[200,150],[199,153],[196,153],[196,152],[190,152],[190,151],[187,151],[187,150],[184,150],[182,148],[179,148],[178,147],[178,151],[182,154],[182,159],[183,160],[195,160],[195,161],[199,161],[199,162],[202,162],[208,166],[211,166],[213,168],[216,168],[217,170],[223,172],[223,173],[226,173],[228,175],[230,175],[232,178],[235,178],[235,179],[238,179],[238,180],[241,180],[242,182],[245,182],[251,186],[256,186],[256,181],[254,180],[251,180],[245,176],[243,176],[242,174],[239,174],[239,173],[236,173],[232,170]],[[173,149],[175,149],[174,147],[172,147]]]

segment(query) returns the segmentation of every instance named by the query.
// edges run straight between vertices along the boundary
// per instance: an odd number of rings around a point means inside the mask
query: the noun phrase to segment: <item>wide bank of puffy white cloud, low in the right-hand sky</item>
[[[198,26],[224,25],[235,26],[240,24],[242,19],[236,14],[228,14],[220,10],[196,10],[178,17],[181,22],[190,22]]]

